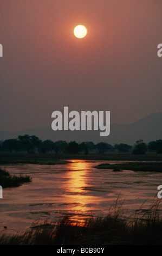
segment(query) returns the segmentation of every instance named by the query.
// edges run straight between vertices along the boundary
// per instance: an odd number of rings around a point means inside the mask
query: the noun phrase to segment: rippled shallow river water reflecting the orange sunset
[[[96,169],[100,163],[122,161],[69,160],[54,166],[16,164],[1,166],[10,174],[30,175],[32,182],[4,188],[0,199],[0,231],[21,232],[37,220],[54,220],[69,214],[73,220],[105,216],[118,198],[123,208],[133,214],[147,200],[157,198],[162,173]],[[7,226],[7,229],[4,229]]]

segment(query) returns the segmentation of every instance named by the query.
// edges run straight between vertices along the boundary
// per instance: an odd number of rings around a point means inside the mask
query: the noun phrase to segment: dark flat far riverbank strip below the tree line
[[[131,153],[96,154],[56,154],[56,153],[0,153],[0,164],[31,163],[31,164],[64,164],[66,160],[105,160],[105,161],[162,161],[162,154],[146,153],[132,155]]]

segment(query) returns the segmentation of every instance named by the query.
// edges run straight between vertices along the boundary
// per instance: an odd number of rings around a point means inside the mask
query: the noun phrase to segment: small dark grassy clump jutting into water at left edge
[[[18,187],[21,186],[24,182],[31,182],[29,175],[25,176],[15,176],[10,175],[6,170],[0,168],[0,184],[3,188],[5,187]]]

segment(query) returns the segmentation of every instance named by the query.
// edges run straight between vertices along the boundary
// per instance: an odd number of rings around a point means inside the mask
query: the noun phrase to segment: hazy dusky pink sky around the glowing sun
[[[0,130],[51,126],[64,106],[111,123],[162,112],[161,0],[1,0],[0,12]]]

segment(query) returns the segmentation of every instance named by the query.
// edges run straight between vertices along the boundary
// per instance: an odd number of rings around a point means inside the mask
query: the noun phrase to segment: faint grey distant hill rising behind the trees
[[[0,140],[17,138],[18,135],[35,135],[43,141],[92,141],[107,142],[110,144],[127,143],[133,145],[138,139],[144,142],[162,139],[162,113],[153,113],[141,118],[133,124],[111,124],[111,132],[108,137],[100,137],[100,131],[53,131],[51,127],[39,127],[23,131],[0,131]]]

